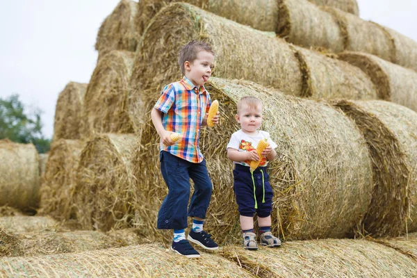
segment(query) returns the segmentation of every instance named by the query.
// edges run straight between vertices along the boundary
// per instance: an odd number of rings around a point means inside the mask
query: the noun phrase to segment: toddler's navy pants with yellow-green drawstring
[[[256,168],[252,179],[250,167],[236,164],[233,176],[233,188],[240,215],[253,217],[256,212],[260,218],[268,217],[272,211],[274,193],[266,167]]]

